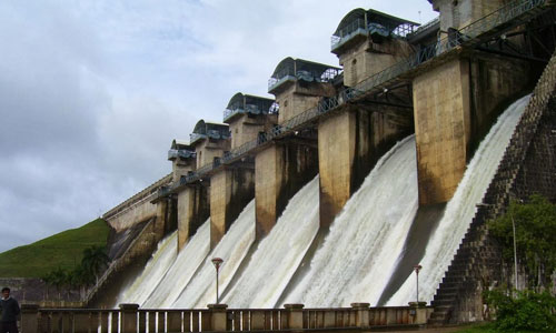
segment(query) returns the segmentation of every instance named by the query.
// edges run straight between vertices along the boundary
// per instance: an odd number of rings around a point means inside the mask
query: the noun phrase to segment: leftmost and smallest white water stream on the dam
[[[141,274],[120,293],[116,304],[145,303],[176,260],[177,242],[178,232],[173,232],[158,243],[157,250],[152,253]]]

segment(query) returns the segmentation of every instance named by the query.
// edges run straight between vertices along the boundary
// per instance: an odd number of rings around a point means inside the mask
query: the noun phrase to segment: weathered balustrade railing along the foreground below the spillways
[[[288,330],[361,330],[373,326],[421,325],[433,312],[427,306],[304,309],[286,304],[285,309],[227,309],[209,304],[208,309],[139,309],[120,304],[120,309],[39,309],[23,305],[22,333],[137,333],[137,332],[259,332]]]

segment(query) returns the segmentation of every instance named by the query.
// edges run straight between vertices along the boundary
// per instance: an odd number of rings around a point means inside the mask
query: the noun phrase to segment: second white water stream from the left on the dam
[[[173,246],[178,246],[175,240]],[[152,291],[141,307],[168,309],[178,299],[181,291],[193,276],[199,265],[210,251],[210,219],[181,249],[170,269]]]

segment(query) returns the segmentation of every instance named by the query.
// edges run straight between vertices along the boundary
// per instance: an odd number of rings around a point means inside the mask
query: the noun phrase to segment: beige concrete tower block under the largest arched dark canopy
[[[370,75],[407,58],[411,52],[409,44],[401,40],[374,43],[371,39],[366,39],[338,54],[339,62],[344,67],[344,84],[355,87]]]

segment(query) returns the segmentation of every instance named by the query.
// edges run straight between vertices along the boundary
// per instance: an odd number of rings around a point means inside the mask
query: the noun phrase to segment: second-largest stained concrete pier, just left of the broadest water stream
[[[350,107],[319,122],[321,225],[334,221],[376,161],[411,132],[410,112],[387,107],[375,111]]]

